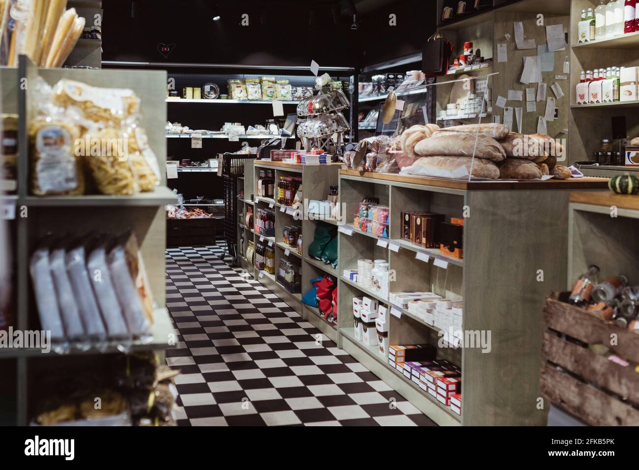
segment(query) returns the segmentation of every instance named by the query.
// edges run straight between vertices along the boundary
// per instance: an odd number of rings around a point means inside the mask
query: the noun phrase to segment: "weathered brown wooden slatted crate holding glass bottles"
[[[620,366],[584,347],[601,343],[617,356],[639,363],[639,334],[558,299],[559,295],[551,295],[544,307],[547,329],[543,337],[541,392],[550,402],[590,425],[639,425],[639,409],[632,406],[639,405],[639,373],[633,366]],[[615,346],[610,345],[612,334],[617,335]]]

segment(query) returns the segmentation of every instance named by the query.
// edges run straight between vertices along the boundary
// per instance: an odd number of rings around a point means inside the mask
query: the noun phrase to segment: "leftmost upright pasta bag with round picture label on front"
[[[37,106],[29,123],[33,194],[83,194],[82,158],[75,148],[81,135],[77,113],[54,106],[51,87],[40,77],[34,93]]]

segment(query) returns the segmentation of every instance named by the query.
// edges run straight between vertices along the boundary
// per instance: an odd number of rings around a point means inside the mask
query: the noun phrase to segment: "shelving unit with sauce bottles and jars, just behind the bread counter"
[[[337,186],[338,184],[337,172],[340,167],[341,164],[302,165],[287,164],[284,162],[245,160],[243,177],[244,198],[243,200],[240,199],[242,204],[238,205],[240,214],[245,214],[249,206],[252,209],[272,208],[272,210],[275,211],[275,237],[265,237],[265,242],[268,244],[270,241],[272,246],[275,248],[276,271],[282,259],[301,267],[302,292],[301,294],[292,294],[291,292],[288,292],[288,290],[286,290],[286,288],[277,281],[275,276],[272,276],[265,271],[258,271],[252,264],[249,264],[243,256],[238,258],[239,265],[254,279],[257,279],[273,290],[273,292],[284,299],[289,306],[300,313],[306,321],[315,325],[319,331],[333,341],[337,341],[337,329],[335,325],[328,323],[325,318],[320,317],[317,309],[312,309],[302,303],[302,295],[304,295],[311,287],[311,283],[309,282],[311,279],[319,278],[325,274],[329,274],[330,276],[337,278],[337,269],[308,256],[308,248],[314,239],[315,227],[319,222],[323,221],[311,220],[310,217],[302,220],[302,214],[300,212],[296,212],[293,208],[282,206],[272,198],[257,197],[256,185],[259,178],[259,170],[270,169],[275,172],[275,181],[279,179],[279,176],[301,176],[302,194],[304,194],[305,200],[325,200],[327,198],[329,186]],[[284,209],[283,212],[281,210],[282,208]],[[336,221],[325,222],[331,224],[337,223]],[[282,228],[285,225],[302,226],[302,242],[304,246],[304,250],[302,252],[303,255],[299,255],[297,253],[296,247],[291,247],[282,240]],[[240,246],[240,237],[242,236],[245,240],[245,246],[247,246],[249,240],[258,244],[261,237],[263,237],[263,235],[256,233],[252,227],[245,226],[244,222],[238,219],[238,246]]]

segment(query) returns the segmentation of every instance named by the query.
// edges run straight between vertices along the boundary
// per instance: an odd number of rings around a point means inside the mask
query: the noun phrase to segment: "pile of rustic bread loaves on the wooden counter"
[[[510,132],[504,124],[468,124],[439,129],[435,124],[404,130],[402,150],[417,158],[401,173],[490,180],[565,179],[571,172],[557,165],[564,148],[550,136]],[[474,155],[474,159],[473,159]]]

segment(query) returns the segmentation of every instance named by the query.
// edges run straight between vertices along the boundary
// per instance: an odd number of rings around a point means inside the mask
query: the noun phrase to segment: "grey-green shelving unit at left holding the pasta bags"
[[[40,75],[45,81],[54,84],[59,79],[68,78],[86,82],[93,86],[130,88],[141,99],[142,117],[140,125],[148,130],[149,143],[158,158],[160,168],[166,161],[166,139],[162,129],[166,122],[166,72],[139,70],[77,70],[77,69],[39,69],[24,56],[20,56],[19,69],[2,69],[3,91],[19,90],[13,95],[13,102],[5,102],[3,109],[15,106],[19,113],[19,154],[24,155],[18,164],[18,194],[8,200],[15,201],[17,207],[27,207],[28,217],[17,217],[15,221],[16,240],[16,282],[17,307],[15,315],[15,329],[22,331],[40,329],[40,321],[36,311],[35,300],[31,292],[29,276],[29,259],[40,237],[47,233],[64,235],[69,231],[73,236],[89,233],[92,230],[102,230],[105,233],[122,233],[132,228],[137,235],[139,249],[144,260],[146,273],[151,287],[153,300],[157,308],[153,311],[153,338],[149,341],[135,340],[132,351],[157,350],[162,351],[171,347],[174,330],[171,318],[165,308],[165,261],[166,247],[166,215],[164,205],[175,203],[176,198],[166,187],[166,176],[162,176],[160,186],[154,192],[139,193],[135,196],[105,196],[101,194],[87,194],[85,196],[31,196],[29,194],[29,138],[27,123],[29,122],[30,104],[33,99],[33,88],[20,88],[19,77],[26,77],[27,81],[35,83]],[[8,78],[5,80],[5,78]],[[6,98],[6,95],[3,96]],[[12,103],[12,104],[11,104]],[[40,350],[31,349],[0,349],[0,361],[13,361],[16,370],[15,423],[26,425],[33,403],[29,397],[36,389],[38,377],[36,372],[39,361],[55,361],[54,368],[64,368],[65,361],[72,361],[72,357],[82,354],[93,355],[95,359],[104,354],[121,354],[115,344],[107,344],[104,352],[95,349],[82,351],[71,349],[64,356],[54,352],[42,354]],[[47,357],[45,357],[47,356]]]

